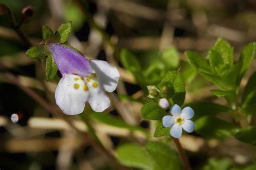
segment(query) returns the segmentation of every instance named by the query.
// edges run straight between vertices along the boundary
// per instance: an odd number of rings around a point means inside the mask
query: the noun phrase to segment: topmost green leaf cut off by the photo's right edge
[[[250,67],[252,60],[255,55],[256,42],[251,42],[245,46],[240,55],[239,61],[242,63],[242,67],[239,74],[239,79],[246,73],[247,69]]]

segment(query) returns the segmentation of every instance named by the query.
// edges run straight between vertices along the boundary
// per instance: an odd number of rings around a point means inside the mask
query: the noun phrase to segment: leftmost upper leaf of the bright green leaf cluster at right
[[[207,63],[206,60],[203,59],[203,57],[193,51],[186,51],[185,52],[185,56],[186,59],[188,61],[188,63],[190,63],[190,65],[197,70],[201,70],[201,72],[205,72],[205,73],[211,73],[211,67],[209,66],[209,64]]]

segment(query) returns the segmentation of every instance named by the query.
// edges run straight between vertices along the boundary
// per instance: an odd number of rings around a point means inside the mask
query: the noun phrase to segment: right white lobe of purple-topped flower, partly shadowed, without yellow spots
[[[96,75],[99,77],[100,84],[107,92],[112,92],[117,88],[117,83],[120,74],[117,68],[112,67],[106,61],[90,60],[91,67],[95,70]]]

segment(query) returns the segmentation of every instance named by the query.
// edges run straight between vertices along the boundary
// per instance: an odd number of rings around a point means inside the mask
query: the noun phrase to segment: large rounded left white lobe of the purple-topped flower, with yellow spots
[[[63,74],[55,91],[55,100],[64,114],[77,115],[84,111],[90,93],[83,87],[84,81],[78,75]]]

